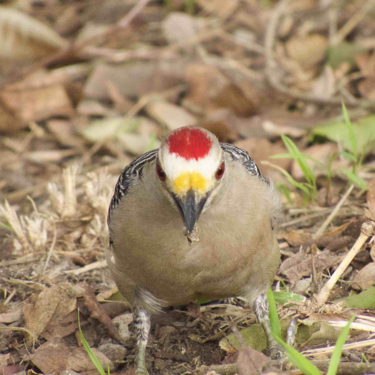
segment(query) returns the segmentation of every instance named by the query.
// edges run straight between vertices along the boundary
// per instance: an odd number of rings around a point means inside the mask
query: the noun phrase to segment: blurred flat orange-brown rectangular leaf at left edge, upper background
[[[0,98],[26,122],[73,114],[72,103],[60,84],[33,90],[3,90]]]

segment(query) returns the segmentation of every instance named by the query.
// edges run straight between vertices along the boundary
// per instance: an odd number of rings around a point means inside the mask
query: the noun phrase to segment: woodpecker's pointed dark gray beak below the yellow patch
[[[173,198],[177,204],[178,210],[180,211],[187,231],[191,233],[208,196],[198,198],[194,191],[190,189],[182,199],[177,198],[176,196]]]

